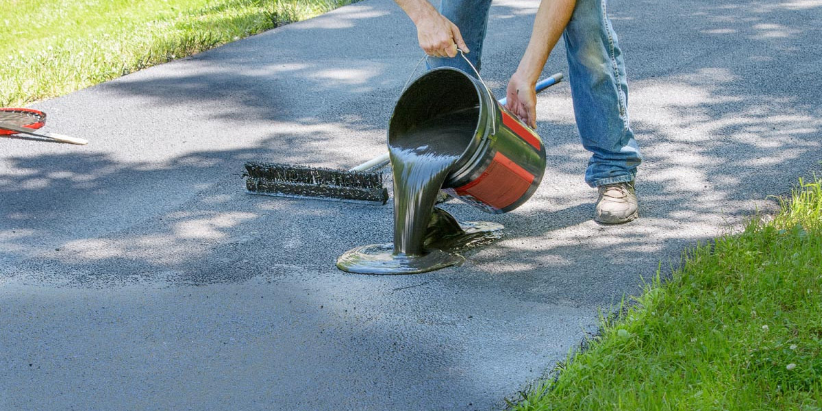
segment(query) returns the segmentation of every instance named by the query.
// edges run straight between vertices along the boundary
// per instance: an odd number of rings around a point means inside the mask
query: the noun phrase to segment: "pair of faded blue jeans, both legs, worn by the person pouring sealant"
[[[491,0],[442,0],[440,12],[453,21],[479,70]],[[528,38],[524,35],[524,38]],[[630,182],[642,162],[640,147],[628,122],[628,85],[617,33],[607,17],[607,0],[577,0],[562,35],[568,58],[568,78],[576,126],[582,145],[592,155],[585,182],[599,187]],[[460,57],[428,58],[429,67],[473,70]],[[550,141],[545,142],[551,154]]]

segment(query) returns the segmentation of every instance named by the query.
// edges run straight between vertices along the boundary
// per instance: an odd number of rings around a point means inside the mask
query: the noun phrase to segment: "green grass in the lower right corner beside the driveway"
[[[686,253],[516,410],[822,409],[822,189]]]

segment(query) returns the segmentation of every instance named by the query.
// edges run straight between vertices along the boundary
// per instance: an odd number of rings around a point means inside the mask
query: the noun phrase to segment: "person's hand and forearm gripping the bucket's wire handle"
[[[429,56],[455,57],[457,48],[469,52],[459,29],[427,0],[394,0],[417,26],[419,47]]]

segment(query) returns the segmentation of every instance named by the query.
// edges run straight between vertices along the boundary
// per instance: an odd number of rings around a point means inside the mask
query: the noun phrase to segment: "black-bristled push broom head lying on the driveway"
[[[381,173],[248,162],[243,177],[249,194],[380,204],[388,201]]]

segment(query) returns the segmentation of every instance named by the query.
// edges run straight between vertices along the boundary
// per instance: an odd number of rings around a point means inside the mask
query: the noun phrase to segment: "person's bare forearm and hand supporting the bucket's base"
[[[506,107],[531,127],[537,127],[537,93],[534,87],[543,72],[548,54],[568,25],[575,5],[576,0],[542,0],[539,3],[528,47],[520,66],[508,81]]]

